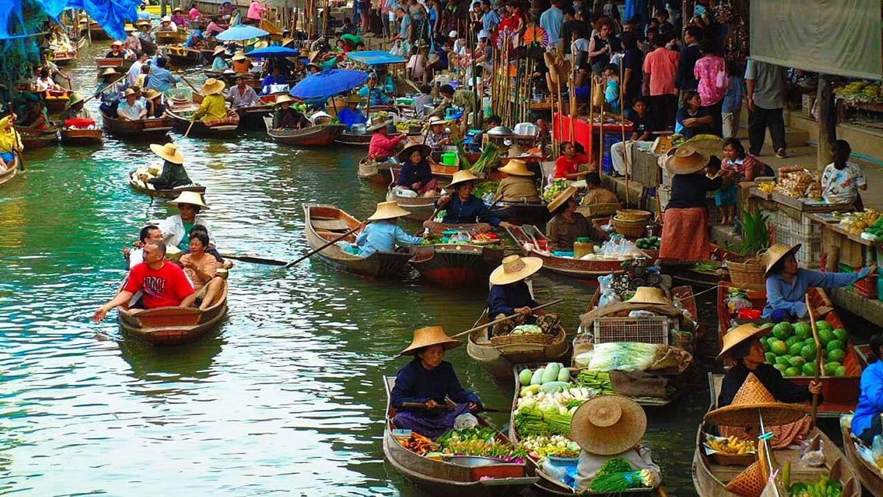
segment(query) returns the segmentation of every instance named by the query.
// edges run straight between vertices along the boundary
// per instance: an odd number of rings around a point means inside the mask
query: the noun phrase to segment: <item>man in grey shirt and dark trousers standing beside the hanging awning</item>
[[[785,68],[748,59],[745,85],[748,87],[748,142],[752,155],[764,147],[766,128],[770,130],[776,157],[788,157],[785,149]]]

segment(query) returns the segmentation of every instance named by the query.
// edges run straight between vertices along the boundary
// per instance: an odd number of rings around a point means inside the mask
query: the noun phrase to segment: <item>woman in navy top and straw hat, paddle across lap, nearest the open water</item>
[[[399,353],[414,358],[396,373],[396,385],[390,395],[390,403],[396,409],[396,428],[434,439],[453,428],[458,416],[481,410],[479,396],[463,388],[454,367],[443,360],[445,350],[462,344],[449,338],[440,326],[414,331],[411,345]],[[446,399],[457,406],[445,409]],[[426,407],[404,407],[404,403],[421,403]]]

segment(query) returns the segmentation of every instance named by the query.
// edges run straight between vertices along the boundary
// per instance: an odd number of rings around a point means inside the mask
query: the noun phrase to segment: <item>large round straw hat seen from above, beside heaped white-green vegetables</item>
[[[590,454],[613,456],[635,447],[647,429],[641,406],[623,395],[599,395],[574,411],[570,438]]]

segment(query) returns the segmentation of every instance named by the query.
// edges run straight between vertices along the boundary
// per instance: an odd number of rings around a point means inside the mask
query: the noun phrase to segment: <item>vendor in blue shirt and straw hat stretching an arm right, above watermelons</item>
[[[662,241],[665,244],[665,239]],[[851,285],[867,275],[876,275],[877,266],[863,267],[857,273],[821,273],[798,267],[795,253],[801,244],[775,244],[764,253],[766,266],[766,306],[763,318],[774,323],[805,319],[809,312],[804,302],[811,287],[835,288]],[[819,308],[821,318],[830,307]]]

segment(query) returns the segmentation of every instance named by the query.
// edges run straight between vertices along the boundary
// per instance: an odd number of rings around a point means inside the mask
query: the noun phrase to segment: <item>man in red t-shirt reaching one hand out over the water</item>
[[[99,307],[92,320],[101,322],[110,309],[132,300],[136,292],[142,293],[144,307],[192,307],[196,292],[184,269],[165,260],[165,244],[151,240],[144,245],[144,262],[132,267],[123,290],[117,297]]]

